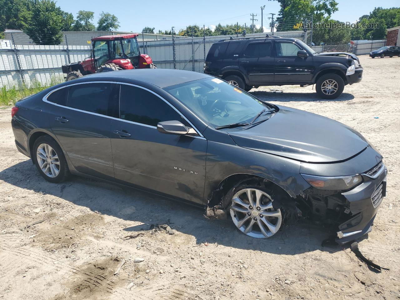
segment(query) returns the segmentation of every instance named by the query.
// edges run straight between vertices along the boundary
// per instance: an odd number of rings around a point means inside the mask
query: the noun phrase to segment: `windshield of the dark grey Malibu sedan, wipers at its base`
[[[185,82],[164,90],[215,127],[248,123],[263,109],[270,108],[254,96],[218,78]]]

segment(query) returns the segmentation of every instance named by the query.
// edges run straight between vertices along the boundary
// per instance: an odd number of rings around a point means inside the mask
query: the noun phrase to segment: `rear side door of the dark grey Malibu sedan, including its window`
[[[114,177],[110,128],[118,92],[118,84],[83,82],[47,96],[50,128],[77,171]]]

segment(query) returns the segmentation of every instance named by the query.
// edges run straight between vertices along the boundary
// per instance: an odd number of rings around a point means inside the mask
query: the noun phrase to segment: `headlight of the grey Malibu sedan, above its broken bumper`
[[[359,174],[348,176],[313,176],[300,174],[314,188],[320,190],[350,190],[362,182]]]

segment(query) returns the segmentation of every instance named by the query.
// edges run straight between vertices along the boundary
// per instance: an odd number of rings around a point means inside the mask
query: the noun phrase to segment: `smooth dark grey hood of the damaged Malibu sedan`
[[[229,131],[230,136],[244,148],[315,163],[347,160],[368,146],[360,133],[340,122],[279,108],[268,120],[246,130]]]

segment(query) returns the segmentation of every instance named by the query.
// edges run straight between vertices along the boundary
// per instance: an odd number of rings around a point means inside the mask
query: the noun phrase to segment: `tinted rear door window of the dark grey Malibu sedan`
[[[95,112],[96,114],[112,114],[112,106],[118,99],[118,84],[85,83],[70,87],[68,107]],[[110,107],[110,109],[109,109]]]

